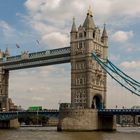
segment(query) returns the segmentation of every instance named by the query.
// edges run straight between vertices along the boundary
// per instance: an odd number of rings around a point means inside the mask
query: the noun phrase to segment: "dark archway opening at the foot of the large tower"
[[[91,108],[93,109],[102,109],[103,108],[103,104],[101,102],[101,96],[100,95],[95,95],[92,99],[92,105]]]

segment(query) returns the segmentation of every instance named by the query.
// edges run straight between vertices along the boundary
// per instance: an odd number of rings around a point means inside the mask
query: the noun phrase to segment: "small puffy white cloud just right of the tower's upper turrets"
[[[133,31],[117,31],[112,35],[112,39],[116,42],[125,42],[134,36]]]

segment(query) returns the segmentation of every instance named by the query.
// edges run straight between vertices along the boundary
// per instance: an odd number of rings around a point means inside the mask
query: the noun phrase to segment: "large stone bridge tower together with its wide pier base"
[[[91,9],[79,28],[73,19],[71,29],[71,103],[61,103],[58,130],[114,130],[115,117],[100,116],[106,108],[106,72],[92,58],[92,53],[106,59],[108,35],[95,25]]]

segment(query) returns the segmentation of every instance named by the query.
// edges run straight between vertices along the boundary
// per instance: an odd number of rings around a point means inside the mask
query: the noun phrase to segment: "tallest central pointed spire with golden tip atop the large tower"
[[[85,29],[94,29],[95,28],[95,23],[94,23],[94,20],[92,17],[93,17],[93,14],[92,14],[91,8],[89,7],[89,10],[87,12],[87,17],[83,24],[83,27]]]

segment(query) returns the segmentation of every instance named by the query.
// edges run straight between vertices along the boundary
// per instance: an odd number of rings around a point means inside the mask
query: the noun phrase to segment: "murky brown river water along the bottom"
[[[1,129],[0,140],[140,140],[140,128],[118,128],[115,132],[57,132],[53,127],[24,127]]]

